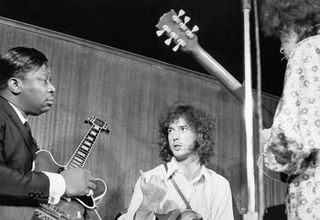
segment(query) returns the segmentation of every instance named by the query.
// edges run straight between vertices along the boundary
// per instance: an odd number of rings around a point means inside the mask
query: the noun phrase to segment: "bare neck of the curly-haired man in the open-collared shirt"
[[[188,181],[193,180],[201,171],[201,163],[198,155],[194,157],[188,157],[182,161],[177,160],[177,165]]]

